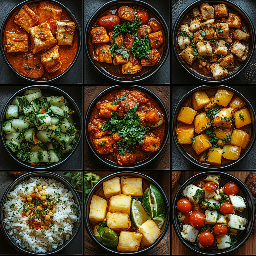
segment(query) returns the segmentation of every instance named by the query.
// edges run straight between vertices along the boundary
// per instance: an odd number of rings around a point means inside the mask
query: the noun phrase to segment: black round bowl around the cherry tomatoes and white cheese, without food
[[[228,181],[235,182],[239,186],[239,191],[240,191],[239,196],[246,198],[246,201],[247,201],[247,208],[241,212],[241,215],[243,217],[245,217],[246,219],[248,219],[247,227],[245,230],[243,230],[242,232],[240,232],[238,234],[238,237],[236,238],[237,242],[233,246],[229,247],[228,249],[222,250],[222,251],[221,250],[208,250],[206,248],[201,249],[194,243],[191,243],[191,242],[185,240],[180,234],[180,232],[182,232],[182,229],[181,229],[181,225],[178,220],[178,217],[177,217],[179,211],[176,208],[176,204],[177,204],[177,201],[180,198],[182,198],[181,193],[185,189],[185,187],[189,184],[194,184],[195,182],[201,180],[203,177],[206,177],[211,174],[217,174],[217,175],[220,175],[221,178],[227,179]],[[221,184],[222,184],[222,182],[221,182]],[[224,185],[224,184],[222,184],[222,185]],[[242,195],[241,195],[241,193],[242,193]],[[227,174],[227,173],[215,172],[215,171],[211,172],[211,173],[209,173],[209,172],[198,173],[195,176],[191,177],[189,180],[187,180],[182,186],[180,186],[178,192],[176,193],[176,195],[174,196],[174,199],[173,199],[172,223],[173,223],[174,231],[175,231],[177,237],[179,238],[180,242],[182,242],[184,244],[184,246],[186,246],[190,251],[192,251],[196,254],[205,254],[205,255],[234,254],[234,252],[236,250],[238,250],[240,247],[242,247],[243,244],[251,236],[251,233],[252,233],[253,227],[254,227],[254,222],[255,222],[255,202],[254,202],[254,199],[252,197],[250,190],[247,188],[247,186],[243,182],[241,182],[240,179],[238,179],[230,174]]]

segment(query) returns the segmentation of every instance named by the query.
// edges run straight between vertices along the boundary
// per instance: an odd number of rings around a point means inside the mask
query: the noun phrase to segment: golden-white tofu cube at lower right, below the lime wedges
[[[143,234],[141,239],[141,246],[146,247],[153,244],[156,239],[161,235],[160,229],[157,227],[154,220],[147,220],[145,221],[138,232]]]

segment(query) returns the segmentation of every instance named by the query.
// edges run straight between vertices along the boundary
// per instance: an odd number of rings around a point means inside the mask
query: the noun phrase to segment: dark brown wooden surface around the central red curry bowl
[[[92,100],[97,96],[100,92],[110,87],[106,85],[102,86],[84,86],[84,117],[86,115],[87,109],[92,102]],[[170,86],[144,86],[148,90],[154,92],[165,104],[165,107],[170,113]],[[125,88],[125,85],[124,85]],[[170,118],[170,115],[169,115]],[[84,169],[85,170],[111,170],[110,168],[104,164],[102,164],[91,152],[90,148],[86,140],[84,140]],[[140,168],[144,170],[170,170],[170,137],[168,142],[163,150],[163,152],[151,162],[149,165]]]

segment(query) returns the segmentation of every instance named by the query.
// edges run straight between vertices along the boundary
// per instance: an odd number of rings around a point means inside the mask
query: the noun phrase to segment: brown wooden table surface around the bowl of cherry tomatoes
[[[186,173],[186,172],[184,172]],[[194,174],[197,174],[200,172],[194,172]],[[249,174],[249,172],[224,172],[224,173],[228,173],[231,174],[235,177],[237,177],[238,179],[240,179],[243,183],[244,180],[246,178],[246,176]],[[181,184],[182,185],[182,184]],[[172,203],[173,203],[173,199],[174,196],[176,195],[178,189],[181,186],[179,183],[172,189]],[[246,241],[245,245],[242,246],[240,249],[238,249],[237,251],[235,251],[232,254],[237,254],[237,255],[256,255],[256,243],[255,243],[255,239],[256,239],[256,229],[254,228],[254,230],[252,231],[251,237]],[[173,225],[172,225],[172,255],[191,255],[191,254],[196,254],[194,252],[191,252],[189,249],[187,249],[182,242],[180,242],[180,240],[178,239]]]

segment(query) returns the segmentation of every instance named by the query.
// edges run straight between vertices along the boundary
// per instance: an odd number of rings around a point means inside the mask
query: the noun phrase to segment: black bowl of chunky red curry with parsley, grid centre
[[[85,137],[94,156],[116,169],[143,167],[163,151],[169,116],[150,90],[118,85],[99,93],[85,117]]]

